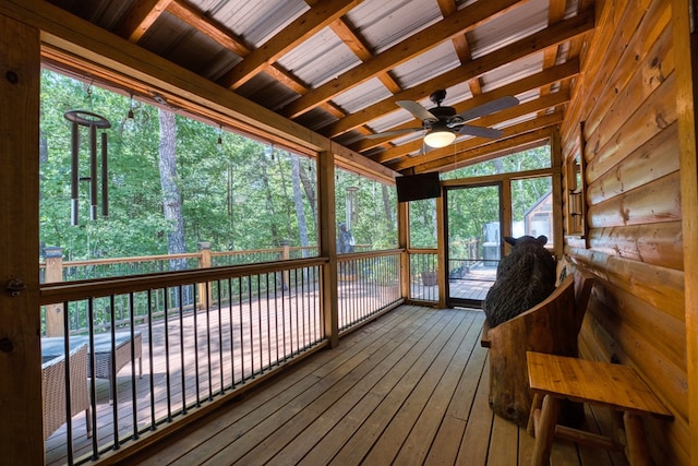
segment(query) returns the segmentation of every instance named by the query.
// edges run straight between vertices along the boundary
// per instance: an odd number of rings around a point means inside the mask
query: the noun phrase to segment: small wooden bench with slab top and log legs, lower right
[[[529,430],[535,437],[531,465],[547,466],[555,437],[609,450],[625,449],[631,466],[650,465],[642,416],[673,416],[629,366],[528,353],[528,373],[535,399]],[[605,406],[623,413],[625,444],[557,425],[563,399]]]

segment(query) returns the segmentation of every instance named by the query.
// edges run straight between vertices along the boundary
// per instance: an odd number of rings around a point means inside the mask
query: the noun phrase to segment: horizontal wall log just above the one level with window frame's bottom
[[[677,222],[682,218],[678,171],[587,210],[590,228]]]

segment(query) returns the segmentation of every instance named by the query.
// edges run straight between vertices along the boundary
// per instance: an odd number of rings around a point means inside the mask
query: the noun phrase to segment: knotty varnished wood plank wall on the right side
[[[580,350],[583,357],[627,363],[641,373],[675,416],[673,422],[646,422],[652,456],[658,464],[687,465],[671,0],[599,0],[595,16],[582,77],[561,129],[564,164],[580,151],[587,162],[587,236],[566,237],[565,254],[598,276]]]

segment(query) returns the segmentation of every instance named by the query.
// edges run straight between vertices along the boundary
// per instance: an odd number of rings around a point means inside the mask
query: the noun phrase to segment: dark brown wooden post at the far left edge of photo
[[[39,328],[39,31],[0,15],[2,463],[44,464]]]

